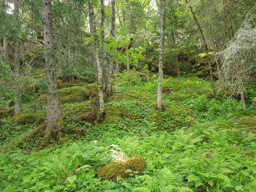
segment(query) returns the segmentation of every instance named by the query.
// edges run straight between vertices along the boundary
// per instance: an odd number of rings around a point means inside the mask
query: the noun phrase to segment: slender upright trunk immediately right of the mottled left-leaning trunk
[[[107,66],[107,54],[106,54],[106,46],[105,46],[105,5],[104,0],[101,0],[101,42],[102,42],[102,54],[103,54],[103,90],[106,90],[107,82],[108,82],[108,72],[109,67]]]

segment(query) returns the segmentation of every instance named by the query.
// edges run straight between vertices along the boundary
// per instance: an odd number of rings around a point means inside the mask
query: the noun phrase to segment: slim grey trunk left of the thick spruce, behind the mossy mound
[[[15,83],[15,102],[14,102],[14,114],[17,114],[21,111],[21,93],[20,93],[20,59],[19,59],[19,0],[14,0],[14,25],[15,25],[15,32],[14,32],[14,83]]]

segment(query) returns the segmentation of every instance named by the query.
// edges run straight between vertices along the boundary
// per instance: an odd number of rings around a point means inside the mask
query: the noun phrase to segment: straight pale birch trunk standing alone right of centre
[[[157,89],[157,109],[163,111],[162,103],[162,88],[163,88],[163,57],[164,57],[164,44],[165,44],[165,0],[160,0],[160,51],[159,51],[159,76],[158,76],[158,89]]]

